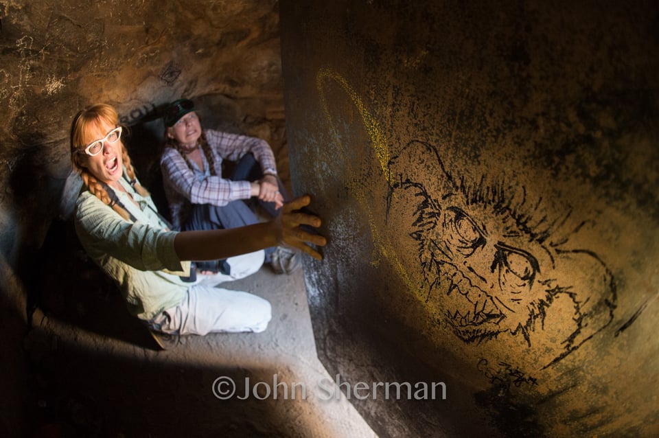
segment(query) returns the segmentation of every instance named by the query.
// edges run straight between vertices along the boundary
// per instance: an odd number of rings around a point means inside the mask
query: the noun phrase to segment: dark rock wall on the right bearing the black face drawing
[[[280,14],[316,345],[373,430],[656,436],[657,4]]]

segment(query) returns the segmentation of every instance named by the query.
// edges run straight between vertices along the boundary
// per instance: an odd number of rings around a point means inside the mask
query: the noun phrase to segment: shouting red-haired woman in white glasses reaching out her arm
[[[114,108],[85,108],[71,126],[71,163],[84,183],[76,201],[76,233],[89,256],[117,282],[129,312],[148,325],[162,347],[161,334],[265,330],[271,317],[265,299],[186,283],[179,275],[189,274],[190,260],[227,259],[241,266],[244,255],[244,272],[226,279],[248,275],[253,272],[250,255],[262,258],[263,249],[278,244],[320,258],[305,242],[324,245],[325,239],[300,227],[318,227],[320,220],[297,211],[309,197],[296,198],[277,218],[248,227],[172,231],[135,177],[121,135]]]

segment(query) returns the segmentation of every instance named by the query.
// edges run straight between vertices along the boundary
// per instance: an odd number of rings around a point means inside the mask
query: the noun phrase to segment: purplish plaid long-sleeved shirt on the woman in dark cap
[[[165,148],[160,159],[165,196],[170,205],[174,229],[181,229],[192,204],[222,206],[232,200],[250,198],[249,181],[222,178],[222,160],[238,161],[244,154],[251,152],[262,171],[277,169],[273,150],[267,141],[211,129],[205,129],[204,132],[211,147],[217,176],[205,176],[200,180],[174,148]]]

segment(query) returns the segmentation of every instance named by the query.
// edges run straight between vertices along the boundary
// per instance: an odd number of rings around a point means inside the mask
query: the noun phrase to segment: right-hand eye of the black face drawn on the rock
[[[520,294],[533,286],[535,274],[540,272],[540,266],[533,255],[521,249],[505,244],[496,244],[496,255],[492,264],[492,272],[498,269],[499,287],[503,292]]]

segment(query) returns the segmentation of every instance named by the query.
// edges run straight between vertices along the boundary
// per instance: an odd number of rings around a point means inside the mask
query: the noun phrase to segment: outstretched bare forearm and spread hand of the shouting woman
[[[317,216],[299,211],[310,202],[306,195],[295,198],[269,222],[233,229],[183,231],[174,238],[174,250],[180,260],[215,260],[285,244],[321,260],[321,254],[310,244],[323,246],[327,240],[300,227],[317,228],[321,225]]]

